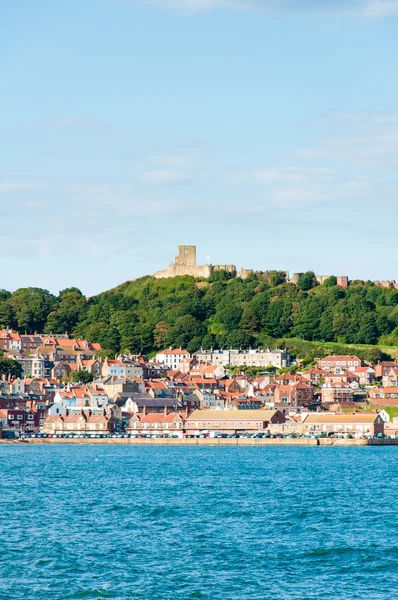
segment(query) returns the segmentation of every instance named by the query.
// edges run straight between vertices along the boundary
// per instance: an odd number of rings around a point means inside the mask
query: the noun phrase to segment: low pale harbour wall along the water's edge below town
[[[0,444],[102,444],[134,446],[398,446],[398,439],[256,439],[256,438],[30,438],[0,440]]]

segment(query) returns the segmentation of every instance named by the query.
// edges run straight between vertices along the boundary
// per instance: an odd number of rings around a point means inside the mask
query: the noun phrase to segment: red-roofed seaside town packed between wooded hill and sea
[[[67,334],[12,330],[0,349],[19,365],[0,382],[3,438],[398,437],[393,361],[331,355],[305,368],[270,348],[109,359]]]

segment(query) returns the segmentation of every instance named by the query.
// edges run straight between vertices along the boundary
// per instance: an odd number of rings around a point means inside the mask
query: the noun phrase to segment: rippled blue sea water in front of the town
[[[0,600],[398,596],[392,448],[0,446]]]

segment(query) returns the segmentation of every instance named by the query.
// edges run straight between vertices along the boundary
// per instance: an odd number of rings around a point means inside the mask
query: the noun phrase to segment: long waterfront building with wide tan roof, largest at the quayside
[[[267,429],[270,423],[284,423],[279,410],[194,410],[185,420],[187,433],[220,431],[257,433]]]

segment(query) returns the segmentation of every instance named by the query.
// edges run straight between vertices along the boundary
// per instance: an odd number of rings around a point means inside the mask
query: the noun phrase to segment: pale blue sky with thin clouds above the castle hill
[[[398,0],[0,2],[0,288],[178,244],[398,280],[397,40]]]

